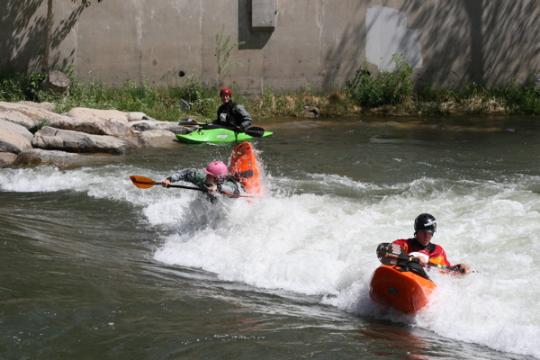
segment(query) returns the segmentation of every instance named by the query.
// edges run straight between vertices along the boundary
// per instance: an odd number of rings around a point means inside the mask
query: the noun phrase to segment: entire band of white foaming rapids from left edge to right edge
[[[3,169],[0,186],[126,201],[140,206],[150,225],[165,227],[154,254],[159,261],[271,291],[318,294],[321,302],[339,309],[395,321],[410,319],[381,309],[368,296],[378,266],[375,248],[412,236],[414,217],[430,212],[439,223],[434,242],[445,247],[450,261],[466,262],[478,272],[465,278],[436,276],[438,290],[416,317],[417,326],[540,358],[532,340],[540,336],[537,177],[498,182],[421,178],[381,186],[320,174],[308,180],[268,176],[268,197],[211,206],[194,191],[135,188],[129,175],[142,171],[118,166]],[[161,179],[167,174],[147,175]],[[344,192],[350,196],[327,192],[336,187],[350,189]]]

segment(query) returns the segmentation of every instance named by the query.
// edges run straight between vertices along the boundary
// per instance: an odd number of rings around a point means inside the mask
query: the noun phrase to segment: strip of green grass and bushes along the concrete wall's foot
[[[360,69],[346,86],[331,94],[309,91],[262,95],[235,95],[257,120],[303,116],[305,107],[317,107],[322,116],[349,116],[362,113],[388,115],[440,114],[533,114],[540,115],[540,88],[533,82],[496,88],[469,85],[460,89],[415,88],[412,68],[395,58],[391,72],[371,74]],[[72,79],[68,95],[42,90],[44,75],[0,75],[1,101],[49,101],[56,111],[73,107],[141,111],[160,120],[193,117],[212,119],[220,105],[216,88],[190,79],[182,87],[151,87],[127,82],[119,87],[83,83]]]

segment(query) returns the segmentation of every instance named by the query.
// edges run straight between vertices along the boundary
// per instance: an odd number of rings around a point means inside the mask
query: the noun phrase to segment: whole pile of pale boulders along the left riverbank
[[[175,145],[189,128],[141,112],[73,108],[50,103],[0,102],[0,167],[84,162],[89,154],[122,154],[141,147]]]

